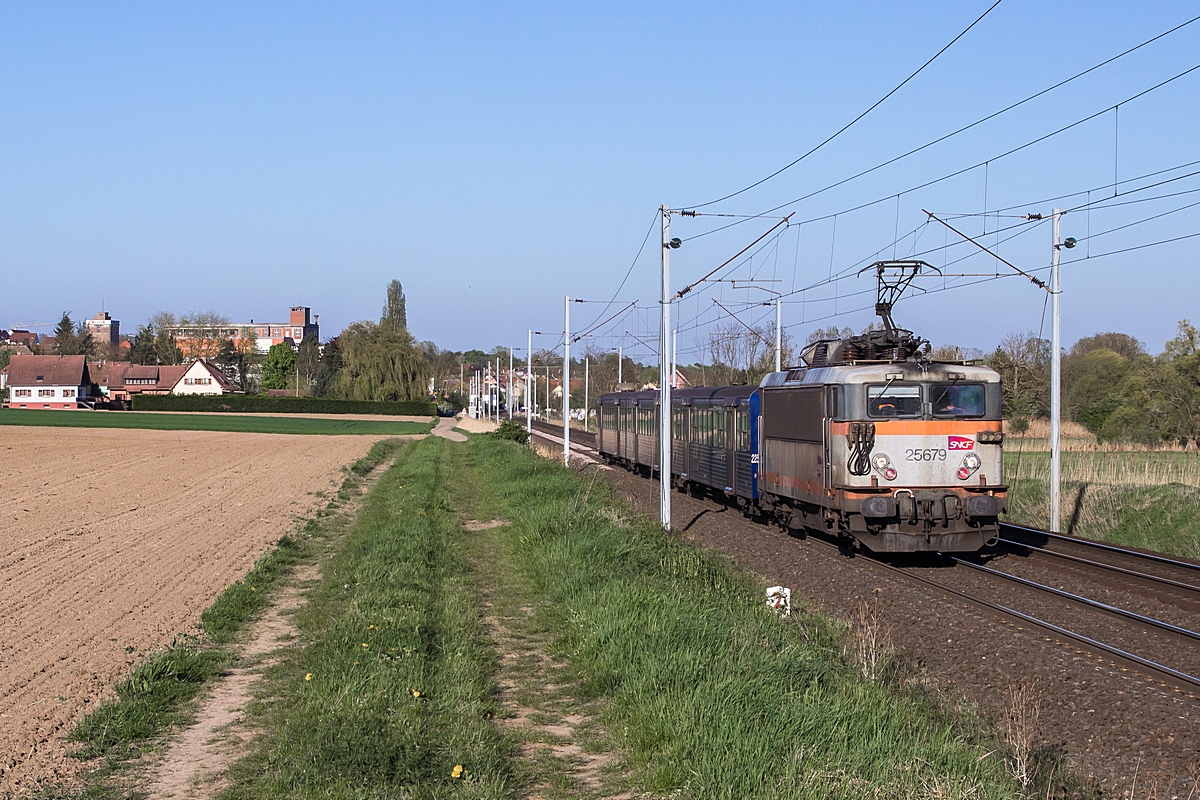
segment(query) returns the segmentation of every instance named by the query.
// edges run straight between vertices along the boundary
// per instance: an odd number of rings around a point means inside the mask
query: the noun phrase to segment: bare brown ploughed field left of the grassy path
[[[70,783],[61,736],[376,439],[0,429],[0,794]]]

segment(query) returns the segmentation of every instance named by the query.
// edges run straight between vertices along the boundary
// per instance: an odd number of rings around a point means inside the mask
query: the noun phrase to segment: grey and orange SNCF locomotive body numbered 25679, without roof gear
[[[792,527],[877,553],[973,552],[998,534],[1008,487],[995,371],[827,361],[773,373],[760,391],[760,503]]]

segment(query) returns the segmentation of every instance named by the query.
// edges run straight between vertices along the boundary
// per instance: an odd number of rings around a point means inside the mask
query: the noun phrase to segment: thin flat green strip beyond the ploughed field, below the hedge
[[[329,420],[234,414],[155,414],[139,411],[62,411],[0,409],[0,425],[64,428],[146,428],[151,431],[222,431],[227,433],[366,434],[398,437],[428,433],[432,422]]]

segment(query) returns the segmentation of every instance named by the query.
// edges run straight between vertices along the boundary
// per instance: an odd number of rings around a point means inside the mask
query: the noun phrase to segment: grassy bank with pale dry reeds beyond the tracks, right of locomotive
[[[1004,453],[1010,522],[1049,527],[1049,453]],[[1063,533],[1200,559],[1200,456],[1064,452]]]

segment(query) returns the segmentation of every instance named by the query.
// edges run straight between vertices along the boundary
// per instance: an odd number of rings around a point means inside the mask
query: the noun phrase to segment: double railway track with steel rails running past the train
[[[562,441],[562,423],[534,421],[533,429]],[[595,434],[572,428],[571,444],[594,453]],[[821,537],[810,541],[838,549]],[[1104,575],[1110,582],[1122,582],[1127,591],[1136,588],[1140,594],[1180,608],[1189,619],[1200,619],[1200,564],[1007,523],[1002,524],[1000,546],[1040,563]],[[995,569],[982,559],[940,557],[935,566],[898,565],[876,558],[862,563],[1200,699],[1200,631],[1193,630],[1195,626],[1172,624]],[[1106,624],[1098,622],[1100,619]]]

